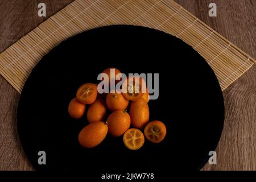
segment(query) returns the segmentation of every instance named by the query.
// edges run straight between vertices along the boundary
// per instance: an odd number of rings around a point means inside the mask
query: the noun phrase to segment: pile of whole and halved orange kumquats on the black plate
[[[103,73],[109,76],[109,81],[110,69],[115,69],[115,76],[121,73],[117,68],[105,69]],[[116,80],[112,82],[117,84]],[[142,77],[127,77],[122,84],[122,93],[108,93],[104,97],[104,94],[98,94],[97,84],[81,85],[68,106],[69,115],[80,119],[85,115],[86,105],[89,105],[86,114],[89,125],[80,131],[78,137],[81,146],[96,147],[108,133],[113,137],[123,136],[123,143],[130,150],[141,148],[144,137],[152,143],[162,142],[166,126],[161,121],[148,122],[149,93],[145,88],[146,82]],[[107,116],[108,110],[112,113]]]

